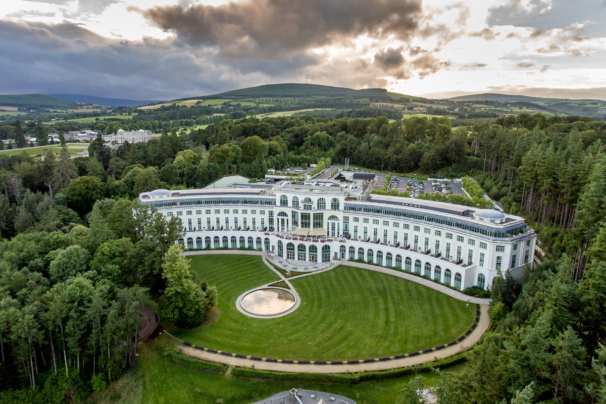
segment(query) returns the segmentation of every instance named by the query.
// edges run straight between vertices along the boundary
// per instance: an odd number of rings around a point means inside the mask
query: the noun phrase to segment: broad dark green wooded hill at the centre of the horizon
[[[330,85],[318,84],[265,84],[257,87],[241,88],[239,90],[225,91],[225,93],[211,94],[207,96],[196,96],[180,98],[174,101],[188,99],[247,99],[247,98],[371,98],[378,96],[399,95],[407,98],[404,94],[388,93],[385,88],[365,88],[364,90],[353,90],[345,87],[331,87]]]

